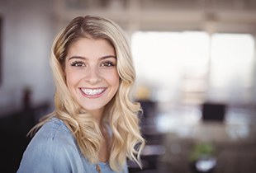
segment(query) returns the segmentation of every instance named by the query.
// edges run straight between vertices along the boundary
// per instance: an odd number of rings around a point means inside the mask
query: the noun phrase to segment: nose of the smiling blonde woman
[[[95,85],[98,82],[102,81],[102,77],[100,75],[99,69],[97,67],[90,67],[88,68],[88,71],[86,72],[86,81],[90,83],[91,85]]]

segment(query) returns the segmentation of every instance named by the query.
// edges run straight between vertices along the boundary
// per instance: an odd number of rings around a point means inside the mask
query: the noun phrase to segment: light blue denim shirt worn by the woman
[[[108,162],[99,162],[102,173],[114,173]],[[53,118],[36,133],[21,159],[17,173],[98,173],[80,152],[72,133]],[[127,166],[123,171],[128,173]]]

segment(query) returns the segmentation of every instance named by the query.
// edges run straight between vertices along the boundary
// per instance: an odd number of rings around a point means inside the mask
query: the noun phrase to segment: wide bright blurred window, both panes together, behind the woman
[[[131,49],[139,97],[142,93],[154,101],[193,104],[252,99],[252,35],[137,31]]]

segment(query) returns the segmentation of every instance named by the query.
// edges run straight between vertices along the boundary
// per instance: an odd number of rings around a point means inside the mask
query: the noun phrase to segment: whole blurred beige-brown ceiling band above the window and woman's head
[[[59,21],[111,18],[128,31],[206,30],[256,34],[255,0],[55,0]]]

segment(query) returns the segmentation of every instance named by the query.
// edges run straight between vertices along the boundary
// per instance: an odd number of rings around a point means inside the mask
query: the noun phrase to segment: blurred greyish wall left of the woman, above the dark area
[[[1,0],[2,83],[0,116],[21,109],[22,95],[31,102],[53,100],[49,58],[55,35],[52,0]]]

